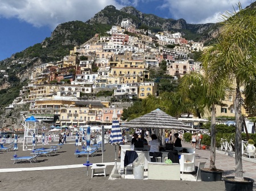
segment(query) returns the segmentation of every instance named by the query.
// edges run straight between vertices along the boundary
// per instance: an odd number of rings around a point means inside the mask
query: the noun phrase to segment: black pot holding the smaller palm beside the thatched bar
[[[209,168],[201,169],[201,180],[204,182],[221,181],[222,170],[217,169],[217,171],[210,171]]]

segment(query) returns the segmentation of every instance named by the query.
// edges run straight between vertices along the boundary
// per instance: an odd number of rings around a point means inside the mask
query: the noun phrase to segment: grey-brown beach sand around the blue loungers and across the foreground
[[[18,145],[19,156],[30,156],[30,151],[22,151]],[[38,146],[42,147],[42,146]],[[47,145],[45,147],[48,147]],[[81,148],[81,146],[79,147]],[[57,165],[72,165],[86,163],[87,157],[76,158],[74,151],[75,143],[65,144],[57,154],[52,156],[38,157],[37,163],[17,163],[13,164],[14,151],[0,151],[0,168],[31,168],[49,167]],[[104,163],[114,162],[115,150],[110,144],[105,145]],[[118,147],[117,147],[118,152]],[[102,163],[101,152],[97,152],[94,157],[89,156],[90,163]],[[119,162],[120,159],[117,160]],[[86,167],[51,169],[40,171],[21,172],[0,172],[0,190],[225,190],[224,181],[218,182],[196,182],[196,181],[169,181],[169,180],[132,180],[116,179],[108,180],[114,165],[107,165],[107,176],[92,176],[89,167],[86,176]]]

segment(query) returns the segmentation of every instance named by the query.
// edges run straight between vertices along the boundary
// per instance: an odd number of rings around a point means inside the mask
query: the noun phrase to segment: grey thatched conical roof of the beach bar
[[[160,109],[155,109],[150,113],[126,122],[125,124],[122,124],[121,127],[193,130],[191,126],[177,120]]]

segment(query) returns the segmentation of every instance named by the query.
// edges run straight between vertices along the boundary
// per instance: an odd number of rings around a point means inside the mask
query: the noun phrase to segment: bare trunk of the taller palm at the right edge
[[[235,116],[236,116],[236,143],[235,143],[235,159],[236,159],[236,175],[235,180],[243,180],[242,166],[242,96],[240,92],[240,82],[237,79],[236,99],[234,101]]]

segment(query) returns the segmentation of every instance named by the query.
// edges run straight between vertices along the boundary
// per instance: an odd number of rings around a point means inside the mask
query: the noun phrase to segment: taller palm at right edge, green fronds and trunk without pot
[[[256,17],[252,9],[239,12],[226,12],[222,15],[225,21],[220,30],[216,44],[204,52],[203,65],[208,65],[208,75],[233,82],[236,87],[234,109],[236,116],[236,175],[237,181],[243,180],[242,172],[242,92],[241,88],[249,88],[251,79],[255,78],[255,44]]]

